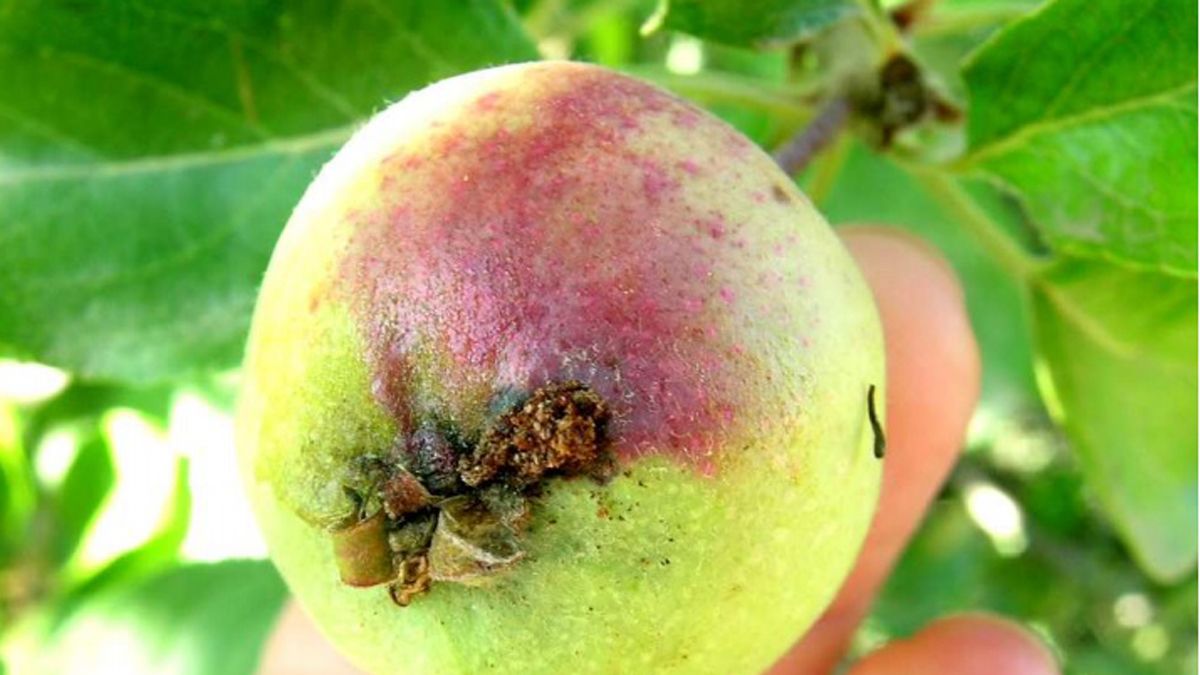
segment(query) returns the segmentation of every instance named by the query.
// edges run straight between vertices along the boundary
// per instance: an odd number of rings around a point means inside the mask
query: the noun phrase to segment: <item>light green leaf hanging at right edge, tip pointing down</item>
[[[1139,563],[1196,562],[1196,285],[1067,261],[1033,289],[1046,399]]]

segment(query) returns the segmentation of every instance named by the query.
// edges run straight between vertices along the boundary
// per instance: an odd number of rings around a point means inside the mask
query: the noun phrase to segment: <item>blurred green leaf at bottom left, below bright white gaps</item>
[[[14,667],[31,675],[250,675],[286,596],[266,561],[173,568],[86,597]]]

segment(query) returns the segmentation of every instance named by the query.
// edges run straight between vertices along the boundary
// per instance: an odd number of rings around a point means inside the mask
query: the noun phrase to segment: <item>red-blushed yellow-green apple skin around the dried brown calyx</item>
[[[295,597],[371,673],[755,673],[866,532],[882,347],[838,238],[733,129],[600,67],[497,67],[386,108],[305,193],[240,464]],[[612,407],[619,471],[546,482],[523,560],[407,608],[338,580],[353,458],[562,380]]]

